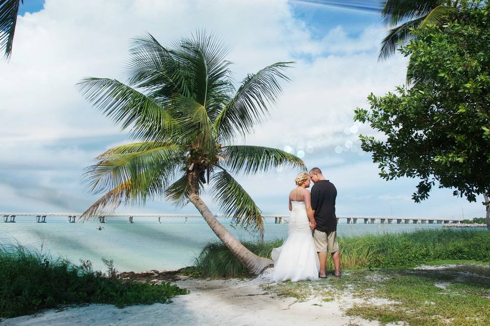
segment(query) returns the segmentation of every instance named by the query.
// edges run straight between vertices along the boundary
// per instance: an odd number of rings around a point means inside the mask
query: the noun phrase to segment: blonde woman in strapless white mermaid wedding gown
[[[297,187],[289,193],[291,215],[287,238],[281,247],[272,250],[275,282],[317,280],[320,270],[320,261],[311,236],[311,229],[316,225],[311,209],[311,195],[306,190],[310,186],[310,177],[307,173],[300,173],[295,182]]]

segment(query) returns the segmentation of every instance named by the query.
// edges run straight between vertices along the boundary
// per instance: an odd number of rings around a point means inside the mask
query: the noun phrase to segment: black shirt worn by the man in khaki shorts
[[[336,197],[337,189],[329,180],[320,180],[311,188],[311,208],[315,211],[316,230],[323,232],[337,230]]]

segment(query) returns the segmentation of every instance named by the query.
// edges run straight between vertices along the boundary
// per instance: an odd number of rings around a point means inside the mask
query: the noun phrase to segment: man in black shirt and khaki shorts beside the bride
[[[340,251],[337,243],[337,217],[335,216],[335,198],[337,189],[326,180],[318,168],[310,170],[311,208],[314,211],[316,228],[313,230],[318,259],[320,260],[320,278],[326,278],[325,265],[328,253],[332,255],[335,266],[334,276],[340,277]]]

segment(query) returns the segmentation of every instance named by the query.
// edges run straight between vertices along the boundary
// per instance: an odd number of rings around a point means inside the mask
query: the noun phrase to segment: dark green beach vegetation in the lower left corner
[[[30,314],[60,305],[101,303],[124,307],[170,303],[188,290],[169,282],[150,284],[117,279],[112,261],[108,271],[94,272],[88,261],[80,266],[20,245],[0,247],[0,317]]]

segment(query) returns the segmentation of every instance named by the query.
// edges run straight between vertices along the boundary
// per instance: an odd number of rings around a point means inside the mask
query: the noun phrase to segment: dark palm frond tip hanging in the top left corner
[[[7,60],[12,54],[20,1],[24,3],[23,0],[0,0],[0,49],[5,49],[4,58]]]

